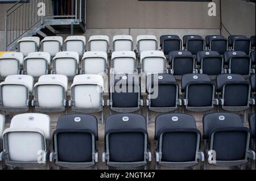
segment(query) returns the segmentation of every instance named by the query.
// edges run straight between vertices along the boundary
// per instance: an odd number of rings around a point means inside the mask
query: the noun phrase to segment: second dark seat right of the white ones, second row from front
[[[170,74],[147,75],[147,100],[149,111],[172,112],[181,106],[179,99],[179,85],[175,77]],[[148,123],[147,110],[147,123]]]

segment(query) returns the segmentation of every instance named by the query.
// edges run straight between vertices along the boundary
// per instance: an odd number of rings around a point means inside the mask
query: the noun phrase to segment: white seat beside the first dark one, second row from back
[[[141,73],[167,73],[166,57],[162,51],[151,50],[141,53]]]

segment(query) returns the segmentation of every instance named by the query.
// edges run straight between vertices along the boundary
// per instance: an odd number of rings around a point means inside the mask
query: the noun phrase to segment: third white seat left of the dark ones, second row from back
[[[82,74],[100,74],[108,71],[108,54],[106,52],[85,52],[82,57]]]

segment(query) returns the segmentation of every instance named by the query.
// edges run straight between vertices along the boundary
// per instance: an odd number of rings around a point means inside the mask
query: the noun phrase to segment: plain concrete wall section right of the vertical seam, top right
[[[255,35],[255,3],[241,0],[221,0],[221,34]]]

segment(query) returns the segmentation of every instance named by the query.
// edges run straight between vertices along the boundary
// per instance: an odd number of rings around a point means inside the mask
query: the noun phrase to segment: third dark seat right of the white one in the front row
[[[200,151],[201,132],[191,115],[168,113],[155,119],[156,169],[192,167],[204,161]]]

